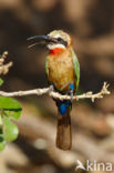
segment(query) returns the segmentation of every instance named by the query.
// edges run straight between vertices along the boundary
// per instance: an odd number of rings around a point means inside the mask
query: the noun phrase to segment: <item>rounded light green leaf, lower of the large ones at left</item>
[[[3,116],[3,139],[7,142],[12,142],[18,138],[18,126],[13,124],[8,116]]]

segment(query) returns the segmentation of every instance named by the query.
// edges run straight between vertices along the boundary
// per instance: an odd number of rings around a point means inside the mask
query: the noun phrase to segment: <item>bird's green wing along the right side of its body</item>
[[[79,82],[80,82],[80,63],[79,63],[77,57],[74,53],[73,49],[71,49],[71,52],[72,52],[73,65],[74,65],[75,86],[76,86],[76,90],[77,90]]]

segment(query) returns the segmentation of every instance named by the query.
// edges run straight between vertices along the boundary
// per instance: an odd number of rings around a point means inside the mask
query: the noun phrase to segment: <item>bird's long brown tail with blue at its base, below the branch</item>
[[[61,150],[70,150],[72,145],[71,133],[71,102],[59,101],[58,105],[58,131],[56,146]]]

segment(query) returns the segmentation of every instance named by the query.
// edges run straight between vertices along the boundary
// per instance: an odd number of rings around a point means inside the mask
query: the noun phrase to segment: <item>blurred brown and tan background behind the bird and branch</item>
[[[0,153],[0,173],[73,173],[76,160],[83,164],[87,159],[114,162],[114,1],[0,0],[0,53],[9,51],[7,61],[13,61],[2,90],[48,86],[48,50],[40,45],[28,49],[27,39],[55,29],[73,38],[81,65],[79,92],[97,92],[107,81],[112,94],[95,103],[73,104],[73,147],[69,152],[54,146],[56,108],[52,99],[18,98],[23,108],[20,135]]]

